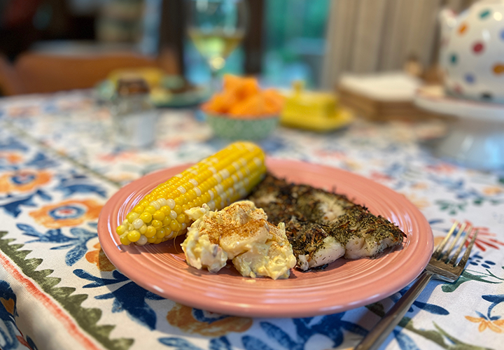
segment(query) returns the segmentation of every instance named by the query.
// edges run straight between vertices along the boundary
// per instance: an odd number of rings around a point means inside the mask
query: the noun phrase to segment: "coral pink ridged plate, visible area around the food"
[[[165,169],[134,181],[107,202],[99,217],[102,248],[120,272],[151,292],[190,307],[254,317],[307,317],[360,307],[407,286],[427,265],[433,235],[426,218],[402,195],[341,169],[292,160],[268,159],[276,176],[343,193],[373,214],[398,225],[402,246],[376,259],[339,259],[326,269],[291,271],[283,280],[242,277],[234,267],[212,274],[186,264],[182,237],[148,246],[121,246],[116,227],[140,197],[186,166]]]

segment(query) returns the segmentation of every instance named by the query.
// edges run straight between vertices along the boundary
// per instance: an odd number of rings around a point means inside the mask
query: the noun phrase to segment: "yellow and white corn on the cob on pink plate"
[[[219,210],[245,197],[266,172],[265,154],[235,142],[158,185],[127,214],[116,232],[122,244],[158,244],[186,232],[186,210]]]

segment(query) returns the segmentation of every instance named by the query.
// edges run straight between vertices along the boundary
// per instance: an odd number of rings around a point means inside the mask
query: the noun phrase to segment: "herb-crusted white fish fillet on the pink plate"
[[[337,195],[295,185],[272,174],[248,196],[274,225],[285,223],[286,234],[302,270],[320,267],[344,256],[377,255],[402,243],[405,234],[382,216]]]

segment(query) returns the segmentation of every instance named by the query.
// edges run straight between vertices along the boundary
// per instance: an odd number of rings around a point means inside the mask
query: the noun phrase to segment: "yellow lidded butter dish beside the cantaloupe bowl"
[[[305,91],[302,83],[293,84],[294,91],[286,99],[280,123],[288,127],[328,132],[351,123],[350,111],[338,106],[337,97],[329,92]]]

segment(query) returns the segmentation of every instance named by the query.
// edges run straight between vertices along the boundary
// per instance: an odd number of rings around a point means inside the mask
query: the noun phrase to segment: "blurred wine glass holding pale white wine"
[[[187,0],[188,35],[204,59],[218,88],[217,74],[245,36],[248,8],[245,0]]]

